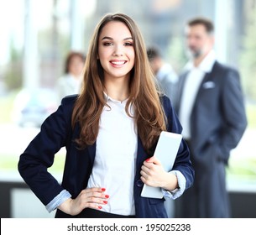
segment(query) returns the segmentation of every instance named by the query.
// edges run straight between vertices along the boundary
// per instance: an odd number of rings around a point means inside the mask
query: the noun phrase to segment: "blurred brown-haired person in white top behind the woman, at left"
[[[78,94],[81,89],[82,69],[86,56],[78,51],[71,51],[65,59],[65,74],[56,82],[60,100],[69,95]]]

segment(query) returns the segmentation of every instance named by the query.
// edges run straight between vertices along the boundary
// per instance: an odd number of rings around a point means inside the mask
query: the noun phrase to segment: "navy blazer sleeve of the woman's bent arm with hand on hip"
[[[65,98],[56,112],[46,118],[37,136],[18,161],[18,171],[34,194],[46,206],[63,187],[47,169],[55,154],[67,144],[71,134],[71,112],[74,98]]]

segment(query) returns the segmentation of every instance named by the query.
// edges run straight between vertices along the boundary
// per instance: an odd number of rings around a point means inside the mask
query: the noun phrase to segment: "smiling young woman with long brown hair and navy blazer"
[[[20,156],[18,170],[55,217],[167,217],[165,199],[140,196],[143,185],[175,199],[194,180],[182,140],[165,172],[154,149],[161,131],[181,133],[169,98],[156,89],[144,40],[132,18],[107,14],[86,56],[79,96],[65,97]],[[47,171],[66,149],[61,185]]]

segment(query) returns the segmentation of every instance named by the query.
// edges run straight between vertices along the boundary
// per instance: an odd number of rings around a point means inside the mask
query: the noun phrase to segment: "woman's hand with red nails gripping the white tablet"
[[[144,184],[149,186],[161,187],[169,191],[173,191],[178,187],[177,177],[166,172],[159,159],[154,156],[144,161],[140,175],[140,179]]]

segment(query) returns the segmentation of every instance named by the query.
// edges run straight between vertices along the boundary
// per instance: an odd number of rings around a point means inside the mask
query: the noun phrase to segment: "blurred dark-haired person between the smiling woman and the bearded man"
[[[175,85],[178,81],[178,76],[170,63],[167,63],[159,49],[156,46],[150,46],[147,49],[150,65],[159,82],[160,88],[165,92],[167,97],[170,97],[171,102],[175,102]]]

